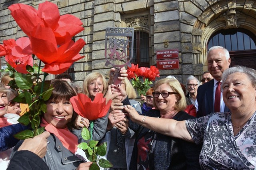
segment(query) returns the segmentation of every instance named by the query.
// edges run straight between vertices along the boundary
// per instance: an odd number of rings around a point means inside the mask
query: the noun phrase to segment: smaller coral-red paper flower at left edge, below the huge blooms
[[[0,56],[5,55],[5,60],[17,72],[28,73],[26,65],[33,66],[32,51],[30,47],[30,40],[27,37],[22,37],[3,41],[1,45]]]

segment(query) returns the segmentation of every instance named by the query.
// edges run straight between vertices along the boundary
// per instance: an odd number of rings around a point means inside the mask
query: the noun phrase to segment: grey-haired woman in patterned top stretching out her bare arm
[[[126,108],[132,121],[164,135],[202,143],[202,169],[255,169],[256,71],[235,66],[222,74],[223,100],[230,113],[175,121],[138,115]],[[166,126],[162,126],[166,125]]]

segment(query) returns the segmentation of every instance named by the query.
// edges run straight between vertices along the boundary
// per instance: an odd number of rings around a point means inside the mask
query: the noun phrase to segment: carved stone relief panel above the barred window
[[[125,23],[126,23],[126,27],[149,27],[148,15],[136,16],[133,18],[126,18]]]

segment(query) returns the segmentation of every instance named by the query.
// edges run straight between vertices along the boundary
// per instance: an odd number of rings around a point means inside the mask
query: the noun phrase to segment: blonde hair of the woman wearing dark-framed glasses
[[[162,84],[169,85],[170,88],[172,88],[172,90],[177,93],[177,94],[175,94],[175,96],[177,98],[177,102],[176,102],[174,108],[177,111],[184,110],[186,108],[187,104],[186,104],[185,94],[182,90],[182,87],[180,86],[180,82],[178,82],[178,80],[176,80],[174,78],[160,79],[155,82],[154,91],[156,90],[156,88],[158,88],[158,86],[160,86]],[[154,104],[154,107],[156,107],[156,109],[158,109],[158,107],[156,106],[155,98],[153,99],[153,104]]]

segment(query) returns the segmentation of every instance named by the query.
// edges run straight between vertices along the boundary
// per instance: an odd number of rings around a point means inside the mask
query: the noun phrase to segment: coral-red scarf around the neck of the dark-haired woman
[[[64,129],[58,129],[54,127],[53,125],[49,124],[44,118],[42,118],[42,122],[40,123],[41,127],[45,127],[45,130],[53,133],[58,137],[58,139],[61,141],[62,145],[70,150],[70,152],[75,153],[77,150],[77,145],[78,145],[78,138],[76,135],[71,133],[68,128]]]

